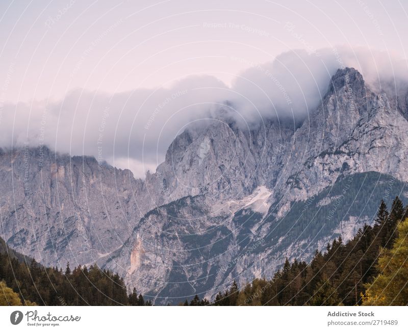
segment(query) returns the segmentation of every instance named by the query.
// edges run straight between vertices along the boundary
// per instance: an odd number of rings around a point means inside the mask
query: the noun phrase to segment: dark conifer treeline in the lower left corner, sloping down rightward
[[[44,268],[34,259],[26,263],[0,253],[0,281],[1,305],[151,305],[136,289],[127,294],[117,273],[96,265],[71,271],[67,264],[63,271]]]

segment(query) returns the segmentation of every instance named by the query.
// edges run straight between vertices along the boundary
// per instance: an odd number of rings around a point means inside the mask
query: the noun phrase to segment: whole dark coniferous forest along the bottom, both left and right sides
[[[272,279],[233,281],[215,300],[196,295],[180,305],[406,305],[407,208],[396,197],[381,201],[374,224],[348,242],[336,238],[310,263],[286,260]],[[10,253],[11,252],[11,253]],[[45,268],[10,249],[0,251],[0,305],[151,305],[136,288],[98,266]]]

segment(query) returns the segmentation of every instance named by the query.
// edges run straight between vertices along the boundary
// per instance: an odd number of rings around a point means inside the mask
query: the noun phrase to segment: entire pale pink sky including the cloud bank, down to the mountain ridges
[[[4,0],[0,145],[41,136],[143,176],[217,102],[236,100],[246,120],[304,116],[342,64],[408,77],[407,12],[407,1]]]

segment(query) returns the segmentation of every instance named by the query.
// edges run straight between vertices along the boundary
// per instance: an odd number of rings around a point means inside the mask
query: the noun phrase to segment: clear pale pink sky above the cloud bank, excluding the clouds
[[[0,101],[171,86],[201,73],[230,85],[248,63],[294,48],[363,45],[407,58],[407,3],[3,0]]]

